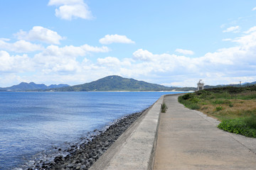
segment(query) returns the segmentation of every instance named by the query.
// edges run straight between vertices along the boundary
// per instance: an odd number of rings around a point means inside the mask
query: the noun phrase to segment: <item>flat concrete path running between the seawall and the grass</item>
[[[154,170],[256,169],[255,139],[219,130],[214,119],[183,107],[177,97],[164,98],[168,110],[160,115]]]

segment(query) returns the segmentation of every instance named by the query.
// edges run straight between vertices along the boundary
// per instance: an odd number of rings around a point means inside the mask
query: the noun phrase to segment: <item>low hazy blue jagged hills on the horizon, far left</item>
[[[35,84],[33,82],[31,83],[25,83],[21,82],[18,85],[6,87],[6,88],[0,88],[0,91],[33,91],[33,90],[45,90],[45,89],[52,89],[52,88],[60,88],[63,86],[69,86],[68,84],[52,84],[50,86],[46,86],[46,84]]]

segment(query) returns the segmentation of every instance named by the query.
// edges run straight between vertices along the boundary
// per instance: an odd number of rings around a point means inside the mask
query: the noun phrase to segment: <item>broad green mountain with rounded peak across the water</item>
[[[109,76],[76,86],[52,89],[54,91],[171,91],[174,87],[150,84],[145,81]]]

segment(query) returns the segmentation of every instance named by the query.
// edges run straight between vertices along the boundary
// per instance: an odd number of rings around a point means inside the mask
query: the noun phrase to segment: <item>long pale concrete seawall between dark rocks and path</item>
[[[161,96],[102,154],[90,170],[153,169],[163,101],[164,96]]]

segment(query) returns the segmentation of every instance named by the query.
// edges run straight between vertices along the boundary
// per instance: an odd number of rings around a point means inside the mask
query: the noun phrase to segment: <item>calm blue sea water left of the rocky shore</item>
[[[1,92],[0,169],[73,142],[173,92]]]

